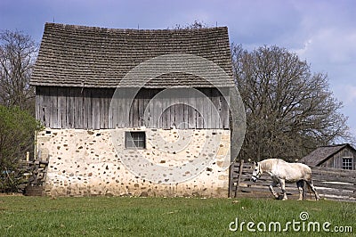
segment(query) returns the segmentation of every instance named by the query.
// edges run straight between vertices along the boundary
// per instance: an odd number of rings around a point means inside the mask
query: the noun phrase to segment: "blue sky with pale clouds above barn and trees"
[[[356,1],[353,0],[2,0],[0,29],[22,30],[40,42],[45,22],[117,29],[167,29],[194,20],[228,26],[231,43],[254,49],[278,45],[330,89],[356,136]]]

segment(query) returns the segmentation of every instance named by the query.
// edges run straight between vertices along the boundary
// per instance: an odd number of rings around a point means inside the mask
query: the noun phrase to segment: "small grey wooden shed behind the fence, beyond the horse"
[[[322,146],[300,159],[300,162],[312,167],[356,170],[356,150],[348,143]]]

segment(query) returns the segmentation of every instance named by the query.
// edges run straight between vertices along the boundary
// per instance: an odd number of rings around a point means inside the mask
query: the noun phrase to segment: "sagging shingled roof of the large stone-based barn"
[[[215,77],[214,86],[234,86],[226,27],[147,30],[105,29],[57,23],[46,23],[44,26],[44,36],[30,84],[116,87],[130,70],[142,62],[167,54],[178,55],[178,59],[182,56],[182,61],[187,61],[187,55],[212,61],[227,74],[227,77]],[[194,67],[201,67],[194,60],[186,63],[195,63]],[[156,64],[153,69],[166,67],[163,62]],[[203,70],[216,74],[214,67]],[[173,71],[171,75],[152,78],[144,87],[212,87],[211,82],[197,75]],[[125,86],[142,86],[142,77],[138,75],[131,78]]]

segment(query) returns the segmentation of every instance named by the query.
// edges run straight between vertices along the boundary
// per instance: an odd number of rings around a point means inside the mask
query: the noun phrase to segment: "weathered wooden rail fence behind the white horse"
[[[253,183],[252,177],[254,164],[237,162],[232,163],[230,168],[230,189],[229,197],[271,197],[269,185],[271,176],[263,174],[261,178]],[[356,170],[336,169],[336,168],[312,168],[312,180],[320,198],[328,200],[356,201]],[[280,187],[275,189],[280,192]],[[297,199],[299,192],[296,184],[286,184],[288,199]],[[304,191],[308,192],[306,185]],[[305,193],[304,192],[304,193]],[[310,193],[307,199],[313,199]]]

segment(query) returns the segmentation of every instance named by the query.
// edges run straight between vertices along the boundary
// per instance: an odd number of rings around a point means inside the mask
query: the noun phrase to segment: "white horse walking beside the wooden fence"
[[[287,163],[282,159],[264,159],[261,162],[255,162],[252,181],[256,182],[262,176],[263,172],[269,174],[272,178],[270,185],[271,193],[276,199],[279,195],[273,190],[277,184],[283,192],[283,200],[287,200],[286,183],[296,183],[299,190],[299,199],[303,200],[303,181],[308,185],[315,195],[315,200],[320,200],[318,193],[312,184],[312,169],[301,163]]]

